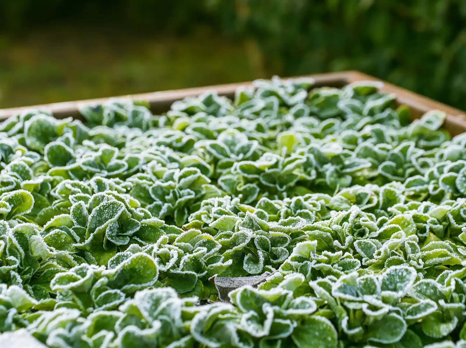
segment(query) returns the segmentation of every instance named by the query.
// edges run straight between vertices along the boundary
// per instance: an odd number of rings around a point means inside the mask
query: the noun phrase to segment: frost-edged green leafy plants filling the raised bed
[[[410,123],[377,84],[311,84],[4,121],[0,332],[53,348],[464,347],[466,137],[439,111]]]

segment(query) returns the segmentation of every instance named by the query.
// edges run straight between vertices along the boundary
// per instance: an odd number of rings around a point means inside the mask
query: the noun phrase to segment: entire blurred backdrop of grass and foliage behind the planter
[[[466,109],[465,0],[0,0],[0,107],[361,70]]]

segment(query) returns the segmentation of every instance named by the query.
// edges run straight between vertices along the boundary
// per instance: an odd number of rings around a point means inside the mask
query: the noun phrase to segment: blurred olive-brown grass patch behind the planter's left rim
[[[58,25],[0,37],[0,108],[248,81],[254,45],[207,29],[183,37]]]

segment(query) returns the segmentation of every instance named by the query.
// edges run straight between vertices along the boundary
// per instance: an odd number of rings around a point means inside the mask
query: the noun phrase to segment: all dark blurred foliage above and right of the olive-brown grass
[[[50,21],[156,33],[199,25],[256,42],[281,76],[356,69],[466,109],[465,0],[3,0],[8,32]]]

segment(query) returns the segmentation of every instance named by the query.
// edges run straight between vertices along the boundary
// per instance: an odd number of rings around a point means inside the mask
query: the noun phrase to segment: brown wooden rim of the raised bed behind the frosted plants
[[[397,103],[407,105],[411,109],[413,119],[420,118],[425,112],[429,110],[440,110],[447,114],[445,119],[444,128],[452,135],[457,135],[466,132],[466,114],[464,111],[455,109],[451,106],[442,104],[428,97],[423,97],[417,93],[413,93],[404,88],[389,84],[382,80],[363,74],[359,71],[343,71],[327,74],[308,75],[315,79],[315,87],[330,86],[330,87],[343,87],[356,81],[380,81],[384,83],[381,91],[385,93],[395,93],[397,95]],[[169,110],[170,105],[184,97],[195,97],[205,92],[206,90],[216,90],[219,95],[233,97],[234,92],[238,86],[247,86],[251,82],[244,82],[238,84],[219,84],[215,86],[186,88],[182,90],[164,90],[160,92],[133,94],[122,97],[130,97],[135,100],[145,100],[149,102],[151,111],[154,113],[161,113]],[[26,106],[20,108],[0,109],[0,120],[8,118],[14,114],[27,109],[41,109],[53,112],[56,118],[75,117],[80,118],[79,107],[81,105],[90,104],[95,105],[102,103],[108,98],[88,99],[80,101],[71,101],[54,104],[43,104]]]

